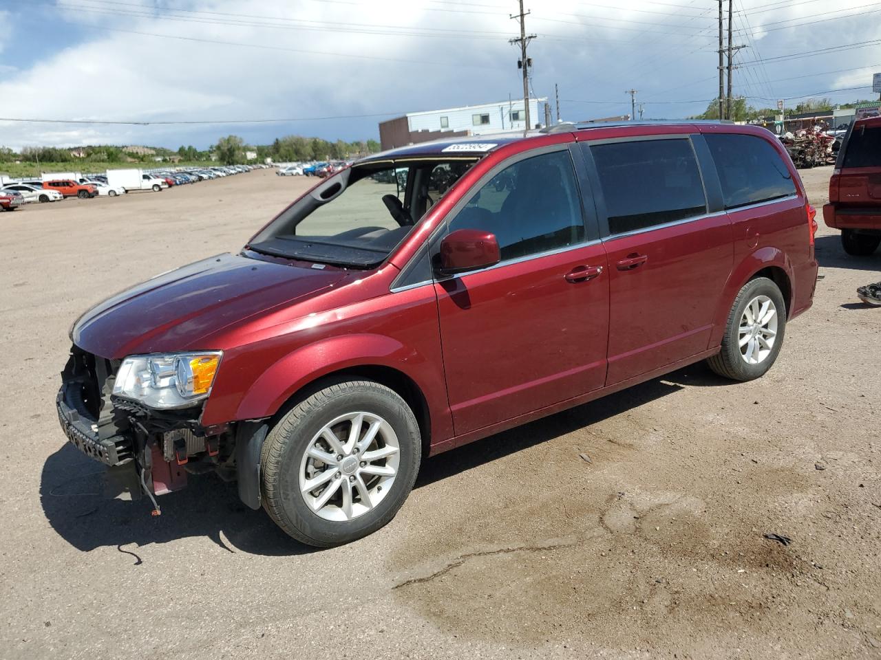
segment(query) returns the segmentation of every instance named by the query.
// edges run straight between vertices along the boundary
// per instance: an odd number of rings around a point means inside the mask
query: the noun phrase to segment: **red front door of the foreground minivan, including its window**
[[[501,252],[434,284],[456,435],[602,387],[609,278],[566,145],[497,168],[454,213],[448,231],[492,231]]]

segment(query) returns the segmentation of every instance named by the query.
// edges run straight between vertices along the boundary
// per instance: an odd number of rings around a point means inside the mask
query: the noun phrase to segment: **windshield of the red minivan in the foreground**
[[[344,170],[287,209],[249,247],[292,259],[374,266],[476,161],[433,158]]]

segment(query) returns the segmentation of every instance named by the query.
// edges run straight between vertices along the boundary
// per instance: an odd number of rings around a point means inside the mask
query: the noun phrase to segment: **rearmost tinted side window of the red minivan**
[[[726,209],[796,194],[780,154],[756,136],[704,136],[719,172]]]

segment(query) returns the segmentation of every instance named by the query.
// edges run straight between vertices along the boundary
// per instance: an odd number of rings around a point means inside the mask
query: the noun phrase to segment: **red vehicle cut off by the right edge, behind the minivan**
[[[825,224],[841,230],[841,246],[868,256],[881,245],[881,117],[851,124],[838,152]]]

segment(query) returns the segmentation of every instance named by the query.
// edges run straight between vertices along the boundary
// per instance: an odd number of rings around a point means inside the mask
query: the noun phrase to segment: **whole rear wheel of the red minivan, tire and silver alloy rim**
[[[760,378],[777,359],[785,331],[786,303],[780,289],[772,280],[756,277],[734,299],[722,350],[707,364],[732,380]]]

